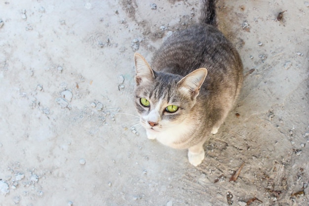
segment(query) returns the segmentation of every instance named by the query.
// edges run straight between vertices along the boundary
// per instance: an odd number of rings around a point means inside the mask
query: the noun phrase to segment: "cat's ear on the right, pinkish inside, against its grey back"
[[[207,76],[207,69],[199,68],[181,79],[177,85],[194,99],[199,94],[199,89]]]

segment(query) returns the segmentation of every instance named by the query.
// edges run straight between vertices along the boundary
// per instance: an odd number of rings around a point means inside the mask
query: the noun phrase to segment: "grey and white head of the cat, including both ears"
[[[134,54],[135,107],[146,129],[162,131],[183,122],[196,102],[207,70],[199,68],[186,77],[156,72],[145,58]]]

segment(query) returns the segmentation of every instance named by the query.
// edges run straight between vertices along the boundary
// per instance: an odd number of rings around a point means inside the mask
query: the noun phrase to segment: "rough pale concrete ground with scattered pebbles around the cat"
[[[150,61],[198,10],[0,1],[0,206],[309,206],[307,0],[218,0],[246,77],[201,165],[138,124],[134,52]]]

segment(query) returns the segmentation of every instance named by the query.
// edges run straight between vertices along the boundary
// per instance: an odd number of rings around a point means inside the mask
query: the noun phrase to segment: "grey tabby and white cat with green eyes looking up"
[[[188,149],[194,166],[203,161],[203,144],[223,124],[243,80],[238,52],[217,29],[215,0],[200,5],[198,22],[168,37],[152,67],[134,54],[135,107],[147,137]]]

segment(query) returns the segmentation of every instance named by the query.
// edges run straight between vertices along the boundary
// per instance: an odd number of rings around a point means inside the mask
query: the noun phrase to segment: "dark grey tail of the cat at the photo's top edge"
[[[215,0],[200,0],[200,10],[199,22],[217,27]]]

